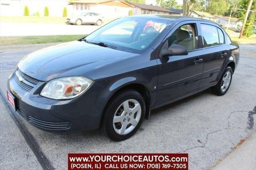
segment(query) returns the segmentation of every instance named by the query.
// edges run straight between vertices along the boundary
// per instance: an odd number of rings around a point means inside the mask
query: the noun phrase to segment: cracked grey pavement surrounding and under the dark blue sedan
[[[47,45],[0,50],[0,169],[67,167],[68,153],[184,152],[189,169],[210,168],[255,132],[256,48],[240,45],[240,63],[226,95],[210,90],[152,111],[128,140],[113,142],[102,130],[51,134],[39,130],[6,103],[6,80],[22,57]],[[12,112],[11,112],[12,111]]]

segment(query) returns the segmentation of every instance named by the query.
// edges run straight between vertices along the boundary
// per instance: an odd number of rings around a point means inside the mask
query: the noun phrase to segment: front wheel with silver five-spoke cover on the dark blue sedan
[[[134,108],[138,111],[130,110]],[[145,112],[145,101],[138,91],[133,89],[120,91],[110,99],[106,106],[102,119],[103,130],[112,140],[126,140],[140,128]],[[116,123],[114,123],[114,117],[116,117]]]

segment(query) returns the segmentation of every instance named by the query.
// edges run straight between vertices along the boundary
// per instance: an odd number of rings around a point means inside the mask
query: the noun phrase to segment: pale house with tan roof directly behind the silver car
[[[118,18],[129,15],[134,6],[124,0],[70,0],[73,15],[90,10],[102,14],[105,18]]]

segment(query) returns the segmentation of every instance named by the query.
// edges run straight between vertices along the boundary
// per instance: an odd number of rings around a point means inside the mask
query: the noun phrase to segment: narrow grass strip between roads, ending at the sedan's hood
[[[84,35],[0,37],[0,46],[69,42],[83,37]]]

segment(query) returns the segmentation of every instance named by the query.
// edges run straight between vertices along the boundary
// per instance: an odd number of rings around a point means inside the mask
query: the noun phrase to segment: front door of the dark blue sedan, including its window
[[[156,107],[176,101],[198,91],[204,55],[198,45],[198,24],[182,22],[168,34],[160,50],[178,44],[188,49],[188,55],[172,55],[157,59],[158,93]]]

